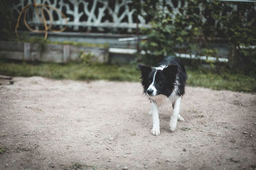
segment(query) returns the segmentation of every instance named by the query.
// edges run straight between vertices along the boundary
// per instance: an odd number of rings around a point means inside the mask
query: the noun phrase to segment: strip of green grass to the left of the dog
[[[70,80],[138,81],[136,66],[113,66],[83,63],[29,63],[0,60],[0,74],[9,76],[43,76]]]

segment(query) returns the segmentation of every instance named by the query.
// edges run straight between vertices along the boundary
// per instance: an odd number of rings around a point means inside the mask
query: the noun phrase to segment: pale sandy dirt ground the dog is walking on
[[[186,87],[185,122],[150,134],[140,83],[0,83],[0,169],[255,169],[256,95]]]

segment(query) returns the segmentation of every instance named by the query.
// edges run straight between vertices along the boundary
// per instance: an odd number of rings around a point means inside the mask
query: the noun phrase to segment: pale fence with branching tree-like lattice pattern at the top
[[[143,0],[140,1],[143,3]],[[173,18],[180,14],[180,8],[188,6],[188,1],[186,0],[162,1],[165,4],[163,8],[168,8],[172,11]],[[29,3],[33,3],[33,0],[20,0],[15,2],[17,3],[13,3],[12,9],[15,15],[18,16],[22,8]],[[145,20],[145,16],[136,16],[135,10],[132,9],[130,5],[132,1],[129,0],[36,0],[35,2],[37,4],[48,4],[62,11],[68,18],[67,26],[71,31],[78,31],[83,28],[91,29],[92,27],[96,27],[101,31],[103,31],[104,28],[128,29],[131,31],[132,29],[136,29],[137,22],[139,27],[150,27],[148,21]],[[211,1],[209,1],[209,3],[211,3]],[[237,11],[238,5],[236,3],[229,5],[233,9],[231,12]],[[202,21],[206,22],[207,18],[204,17],[203,6],[198,6],[198,8],[200,13],[202,13]],[[60,13],[54,13],[53,10],[51,10],[51,13],[54,18],[53,26],[61,28],[66,24]],[[220,13],[220,15],[222,15],[222,13]],[[248,15],[248,13],[244,13],[244,15]],[[30,18],[32,19],[29,20],[29,24],[35,25],[35,27],[42,25],[35,11],[31,13]],[[246,23],[246,20],[244,21]],[[215,24],[218,24],[218,20],[215,22]]]

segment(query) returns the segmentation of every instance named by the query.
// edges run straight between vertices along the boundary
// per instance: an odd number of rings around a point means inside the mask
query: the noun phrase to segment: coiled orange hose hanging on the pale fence
[[[37,29],[32,29],[27,20],[26,20],[26,15],[28,13],[28,9],[30,6],[34,6],[35,10],[36,10],[36,15],[38,16],[38,18],[40,19],[40,22],[42,24],[44,24],[44,30],[37,30]],[[60,30],[55,30],[55,29],[51,29],[52,27],[52,22],[53,22],[53,17],[52,17],[52,13],[49,9],[52,9],[58,13],[61,14],[61,16],[65,19],[65,22],[66,22],[66,25],[65,27],[63,27],[63,29],[60,29]],[[40,10],[41,12],[41,15],[42,15],[42,18],[40,17],[39,13],[38,13],[38,10]],[[47,25],[47,20],[45,18],[45,15],[44,15],[44,11],[46,11],[46,13],[49,15],[49,18],[50,18],[50,24]],[[57,8],[54,8],[52,6],[49,6],[47,4],[36,4],[35,3],[35,0],[33,0],[33,4],[27,4],[26,6],[24,6],[24,8],[20,11],[20,14],[19,14],[19,17],[18,17],[18,20],[17,20],[17,24],[15,26],[15,34],[18,36],[18,32],[17,32],[17,29],[19,28],[19,22],[20,22],[20,17],[22,16],[22,13],[24,13],[24,18],[23,18],[23,22],[24,24],[26,25],[26,27],[29,29],[29,31],[32,31],[32,32],[44,32],[45,33],[45,36],[44,38],[47,39],[47,35],[48,35],[48,31],[51,31],[51,32],[63,32],[65,31],[65,29],[67,29],[67,23],[68,23],[68,20],[67,20],[67,17],[64,15],[63,12],[61,12],[60,10],[58,10]]]

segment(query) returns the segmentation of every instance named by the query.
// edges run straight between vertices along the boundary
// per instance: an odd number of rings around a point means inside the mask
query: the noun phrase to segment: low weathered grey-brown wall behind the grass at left
[[[108,48],[99,47],[0,41],[0,57],[4,59],[65,63],[81,61],[81,55],[88,55],[92,62],[106,63],[109,52]]]

